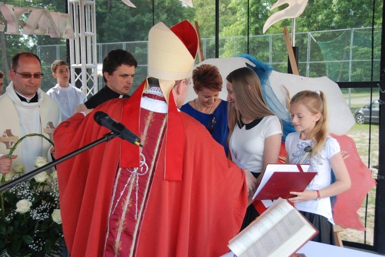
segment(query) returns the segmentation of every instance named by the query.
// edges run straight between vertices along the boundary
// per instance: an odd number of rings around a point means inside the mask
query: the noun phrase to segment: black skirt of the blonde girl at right
[[[334,231],[333,225],[322,215],[318,215],[311,212],[300,211],[305,218],[310,221],[319,231],[319,233],[314,236],[312,241],[319,242],[323,244],[336,245],[334,240]]]

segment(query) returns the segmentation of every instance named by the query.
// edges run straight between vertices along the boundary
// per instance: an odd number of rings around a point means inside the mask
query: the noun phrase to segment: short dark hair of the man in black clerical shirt
[[[135,68],[138,67],[138,62],[133,55],[123,49],[112,50],[104,57],[102,68],[104,83],[107,82],[104,72],[112,74],[122,64],[134,66]]]

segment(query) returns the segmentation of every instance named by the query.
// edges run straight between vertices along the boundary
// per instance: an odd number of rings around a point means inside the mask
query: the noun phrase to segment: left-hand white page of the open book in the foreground
[[[262,236],[290,211],[294,210],[294,207],[287,203],[284,199],[278,199],[272,206],[270,206],[259,218],[253,221],[242,232],[237,234],[232,240],[229,241],[228,247],[237,255],[240,256],[248,248],[251,248],[255,242],[259,241]],[[280,245],[279,242],[276,242]],[[257,256],[257,255],[253,255]],[[266,255],[261,255],[266,256]]]

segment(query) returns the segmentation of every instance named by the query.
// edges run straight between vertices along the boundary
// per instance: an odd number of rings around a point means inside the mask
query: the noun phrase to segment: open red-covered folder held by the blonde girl
[[[302,192],[312,182],[317,172],[307,172],[309,164],[267,164],[253,200],[287,199]]]

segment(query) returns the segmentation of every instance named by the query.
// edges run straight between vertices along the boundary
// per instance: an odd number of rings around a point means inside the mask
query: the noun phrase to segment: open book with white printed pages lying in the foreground
[[[291,256],[317,233],[296,208],[280,198],[230,240],[228,248],[239,257]]]

